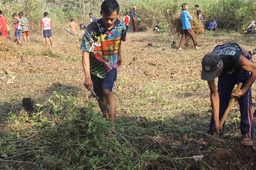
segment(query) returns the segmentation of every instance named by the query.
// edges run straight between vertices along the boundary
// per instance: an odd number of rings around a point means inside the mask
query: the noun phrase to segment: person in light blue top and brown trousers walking
[[[184,3],[181,5],[182,12],[180,14],[180,20],[182,22],[182,32],[181,32],[181,39],[180,39],[180,45],[179,45],[179,51],[182,50],[183,45],[185,44],[187,34],[189,33],[192,37],[192,41],[194,43],[194,46],[196,50],[200,49],[200,47],[197,46],[197,40],[196,40],[196,34],[194,33],[193,29],[190,25],[190,20],[192,20],[192,16],[190,16],[188,12],[188,4]]]

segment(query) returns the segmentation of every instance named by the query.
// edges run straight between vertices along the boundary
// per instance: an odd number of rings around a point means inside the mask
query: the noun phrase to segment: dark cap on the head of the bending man
[[[214,80],[222,66],[223,62],[218,53],[212,52],[206,54],[202,60],[201,78],[208,81]]]

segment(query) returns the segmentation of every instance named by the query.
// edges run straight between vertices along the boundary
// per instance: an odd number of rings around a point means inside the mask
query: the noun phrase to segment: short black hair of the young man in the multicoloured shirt
[[[119,5],[116,0],[104,0],[101,4],[101,12],[106,16],[110,16],[115,11],[119,13]]]

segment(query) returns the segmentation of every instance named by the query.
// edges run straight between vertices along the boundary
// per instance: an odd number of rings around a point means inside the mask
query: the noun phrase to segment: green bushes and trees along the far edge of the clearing
[[[77,23],[89,23],[89,12],[96,18],[100,16],[100,5],[103,0],[0,0],[0,10],[10,22],[12,14],[20,11],[30,21],[32,31],[40,30],[40,20],[44,12],[49,12],[54,22],[55,31],[63,31],[70,18]],[[157,22],[171,25],[174,15],[181,11],[181,4],[187,3],[190,13],[196,13],[194,5],[198,4],[205,23],[215,19],[220,29],[242,31],[250,21],[255,20],[256,0],[118,0],[120,19],[125,12],[137,6],[137,16],[148,28]]]

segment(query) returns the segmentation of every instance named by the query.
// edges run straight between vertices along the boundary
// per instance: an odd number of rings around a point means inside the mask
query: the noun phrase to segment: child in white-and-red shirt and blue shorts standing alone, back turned
[[[46,47],[48,47],[48,38],[52,46],[52,20],[49,18],[48,12],[44,12],[44,18],[41,20],[41,33],[44,35]]]

